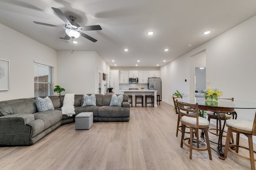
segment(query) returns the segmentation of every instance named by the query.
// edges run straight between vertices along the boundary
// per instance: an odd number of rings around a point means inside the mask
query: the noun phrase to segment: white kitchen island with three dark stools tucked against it
[[[144,102],[143,105],[145,106],[145,95],[154,95],[154,107],[157,107],[157,102],[156,102],[156,93],[157,90],[148,90],[148,89],[140,89],[140,90],[121,90],[121,94],[127,94],[127,95],[132,95],[132,106],[135,106],[135,95],[143,95]],[[138,105],[138,104],[137,104]]]

